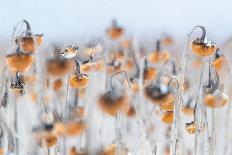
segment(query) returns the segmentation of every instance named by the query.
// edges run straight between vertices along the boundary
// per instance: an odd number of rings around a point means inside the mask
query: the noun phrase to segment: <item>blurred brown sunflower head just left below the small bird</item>
[[[47,72],[56,77],[65,76],[74,68],[74,63],[65,59],[50,59],[47,62]]]

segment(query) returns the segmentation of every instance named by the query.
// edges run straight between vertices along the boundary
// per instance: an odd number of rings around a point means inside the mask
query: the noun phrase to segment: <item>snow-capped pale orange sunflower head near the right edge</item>
[[[216,90],[213,93],[207,93],[204,96],[204,103],[210,108],[221,108],[228,103],[228,96]]]

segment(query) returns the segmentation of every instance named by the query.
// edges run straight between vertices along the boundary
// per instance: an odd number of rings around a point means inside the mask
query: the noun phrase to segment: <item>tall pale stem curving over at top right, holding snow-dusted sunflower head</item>
[[[182,54],[182,58],[181,58],[181,68],[180,68],[180,73],[178,75],[178,79],[179,79],[179,84],[180,87],[177,90],[177,94],[176,94],[176,100],[174,101],[174,118],[173,118],[173,130],[172,130],[172,143],[171,143],[171,154],[173,155],[177,155],[181,153],[180,150],[180,112],[181,112],[181,107],[182,107],[182,95],[184,92],[184,78],[185,78],[185,69],[186,69],[186,62],[188,59],[188,56],[190,54],[190,52],[188,51],[189,48],[189,44],[191,41],[191,37],[193,32],[197,29],[200,28],[203,31],[203,34],[201,36],[201,39],[205,38],[206,32],[204,27],[202,26],[195,26],[192,31],[190,32],[190,34],[188,35],[188,41],[185,45],[184,48],[184,52]]]

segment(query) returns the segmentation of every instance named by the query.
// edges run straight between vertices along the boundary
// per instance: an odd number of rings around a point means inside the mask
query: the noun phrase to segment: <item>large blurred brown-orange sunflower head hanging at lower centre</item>
[[[127,96],[114,96],[114,93],[107,92],[100,96],[98,100],[98,105],[100,109],[111,116],[115,116],[123,107],[123,105],[127,104],[128,98]]]

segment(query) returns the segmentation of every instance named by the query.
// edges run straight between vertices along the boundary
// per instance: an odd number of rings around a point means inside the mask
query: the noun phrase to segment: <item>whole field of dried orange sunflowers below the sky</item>
[[[194,37],[197,30],[200,37]],[[116,21],[89,43],[43,47],[26,20],[1,67],[0,155],[231,154],[230,42],[203,26],[182,57]]]

